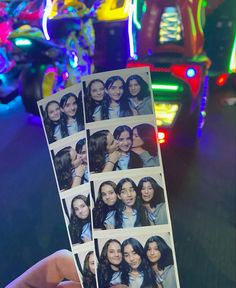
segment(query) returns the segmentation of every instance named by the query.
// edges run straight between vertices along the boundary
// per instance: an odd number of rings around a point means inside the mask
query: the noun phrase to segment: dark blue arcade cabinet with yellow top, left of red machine
[[[105,0],[94,22],[96,72],[125,68],[129,57],[128,16],[131,0]]]

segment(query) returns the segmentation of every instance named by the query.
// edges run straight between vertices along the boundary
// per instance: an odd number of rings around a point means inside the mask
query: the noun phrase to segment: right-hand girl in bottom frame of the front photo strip
[[[156,275],[156,283],[163,288],[177,288],[171,248],[160,236],[150,237],[145,244],[147,259]]]

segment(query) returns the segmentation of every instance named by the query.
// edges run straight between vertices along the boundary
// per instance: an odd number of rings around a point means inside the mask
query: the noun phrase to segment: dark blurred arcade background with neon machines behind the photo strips
[[[0,1],[0,286],[70,249],[36,101],[148,66],[180,285],[235,287],[235,2],[82,4]]]

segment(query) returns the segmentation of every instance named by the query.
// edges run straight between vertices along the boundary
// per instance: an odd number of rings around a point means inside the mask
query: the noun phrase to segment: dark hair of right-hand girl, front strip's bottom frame
[[[145,247],[144,247],[145,252],[147,253],[149,244],[153,243],[153,242],[155,242],[157,244],[158,250],[161,253],[161,257],[157,261],[157,267],[160,270],[164,270],[165,267],[167,267],[169,265],[173,265],[174,264],[174,260],[173,260],[172,250],[167,245],[165,240],[163,238],[161,238],[160,236],[152,236],[146,241],[146,244],[145,244]]]

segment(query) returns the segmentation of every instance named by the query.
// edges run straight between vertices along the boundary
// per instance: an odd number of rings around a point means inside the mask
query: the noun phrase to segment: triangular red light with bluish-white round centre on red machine
[[[196,74],[194,77],[189,78],[187,76],[187,71],[192,68],[195,70]],[[200,90],[200,85],[201,85],[201,73],[202,69],[198,65],[172,65],[171,66],[171,73],[184,80],[190,87],[192,94],[194,97],[197,96],[199,90]]]

